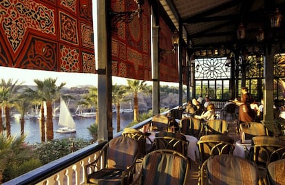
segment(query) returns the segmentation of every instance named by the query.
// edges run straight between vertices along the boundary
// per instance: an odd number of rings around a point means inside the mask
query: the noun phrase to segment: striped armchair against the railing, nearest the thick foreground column
[[[123,136],[110,140],[94,162],[84,166],[85,184],[130,184],[137,155],[136,140]]]

